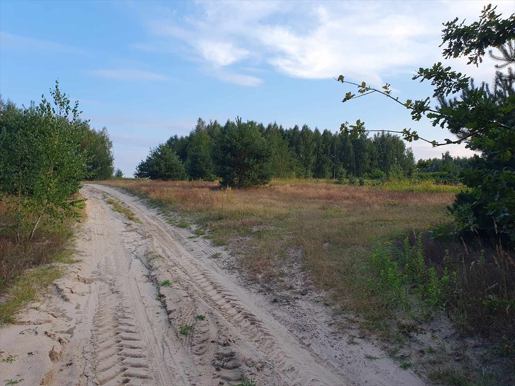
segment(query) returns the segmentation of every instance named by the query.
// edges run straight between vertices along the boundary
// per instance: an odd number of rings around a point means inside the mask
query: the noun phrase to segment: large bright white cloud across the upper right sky
[[[441,24],[456,16],[475,20],[487,3],[197,2],[195,12],[151,16],[148,26],[170,45],[186,43],[203,65],[268,65],[290,77],[344,74],[379,85],[386,75],[441,61]],[[511,1],[493,3],[505,15],[513,12]],[[486,66],[481,71],[463,61],[454,64],[459,71],[487,75]]]

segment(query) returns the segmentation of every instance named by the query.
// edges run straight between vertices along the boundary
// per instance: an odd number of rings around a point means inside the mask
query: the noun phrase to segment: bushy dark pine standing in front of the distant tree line
[[[272,178],[270,147],[253,121],[227,121],[213,145],[213,160],[222,186],[264,185]]]

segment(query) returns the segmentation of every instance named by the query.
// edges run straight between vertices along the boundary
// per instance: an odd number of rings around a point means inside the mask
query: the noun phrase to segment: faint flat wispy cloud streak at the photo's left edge
[[[45,52],[47,54],[86,54],[87,51],[69,44],[32,39],[0,31],[0,48],[28,52]]]

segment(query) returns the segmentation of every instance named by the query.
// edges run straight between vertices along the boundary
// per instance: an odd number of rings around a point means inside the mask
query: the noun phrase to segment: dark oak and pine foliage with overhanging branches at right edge
[[[445,58],[469,55],[469,64],[482,61],[488,47],[499,49],[499,55],[490,56],[501,62],[496,68],[506,72],[495,72],[491,85],[475,85],[469,77],[452,71],[436,63],[431,68],[420,68],[413,79],[428,80],[435,87],[433,97],[438,107],[430,107],[430,98],[400,102],[393,98],[389,84],[382,90],[373,89],[365,82],[358,84],[346,81],[343,76],[338,80],[353,84],[359,94],[381,93],[410,110],[414,120],[426,116],[433,126],[447,128],[458,139],[445,139],[443,143],[421,138],[416,131],[404,129],[396,131],[406,141],[422,141],[433,146],[465,142],[467,147],[481,153],[471,168],[461,174],[462,181],[470,187],[467,195],[459,195],[452,206],[455,217],[454,233],[460,235],[480,234],[486,238],[500,236],[504,241],[515,240],[515,13],[508,19],[501,19],[495,8],[488,5],[483,9],[478,22],[467,26],[457,24],[457,19],[444,24],[443,44],[447,44]],[[451,97],[449,97],[451,96]],[[453,97],[454,96],[454,97]],[[344,102],[355,98],[347,93]],[[363,134],[364,122],[355,125],[345,122],[341,125],[344,132],[354,136]],[[452,174],[453,165],[448,164]]]

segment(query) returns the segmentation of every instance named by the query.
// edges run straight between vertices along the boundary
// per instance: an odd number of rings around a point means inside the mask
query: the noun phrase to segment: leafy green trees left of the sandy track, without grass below
[[[80,118],[78,102],[59,89],[36,105],[19,108],[0,98],[0,198],[18,242],[30,241],[42,219],[73,216],[82,180],[113,176],[106,128]],[[2,230],[5,231],[5,230]]]

